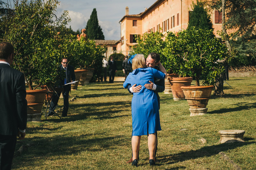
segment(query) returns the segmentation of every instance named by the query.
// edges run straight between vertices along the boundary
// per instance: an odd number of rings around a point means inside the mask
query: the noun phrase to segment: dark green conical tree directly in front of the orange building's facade
[[[193,11],[189,14],[188,27],[196,27],[196,29],[212,29],[210,15],[204,9],[204,4],[198,1],[196,1],[196,4],[194,2],[192,3]]]

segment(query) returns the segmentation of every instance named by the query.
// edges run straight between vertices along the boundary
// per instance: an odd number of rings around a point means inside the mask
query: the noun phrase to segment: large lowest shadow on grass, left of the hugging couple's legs
[[[49,133],[53,133],[49,131]],[[108,135],[104,132],[98,133],[97,136],[91,137],[95,134],[80,134],[80,135],[53,135],[52,137],[33,137],[26,138],[20,143],[17,143],[16,151],[21,144],[30,143],[31,147],[25,150],[22,155],[14,158],[14,165],[12,168],[18,168],[21,165],[24,169],[29,168],[31,163],[40,167],[42,162],[56,164],[54,161],[59,159],[73,157],[79,155],[81,152],[100,152],[106,149],[115,150],[120,143],[126,143],[127,139],[124,135]],[[40,161],[38,161],[40,158]],[[86,161],[86,158],[85,158]],[[45,163],[47,166],[47,163]]]

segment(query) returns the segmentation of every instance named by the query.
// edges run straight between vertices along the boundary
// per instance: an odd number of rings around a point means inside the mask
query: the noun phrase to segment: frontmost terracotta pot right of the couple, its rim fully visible
[[[206,105],[211,97],[214,86],[182,86],[181,89],[190,107],[190,116],[207,113]]]

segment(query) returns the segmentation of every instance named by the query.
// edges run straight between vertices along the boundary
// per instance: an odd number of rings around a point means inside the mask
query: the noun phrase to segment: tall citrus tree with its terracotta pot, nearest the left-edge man
[[[11,42],[16,52],[13,67],[24,73],[29,88],[26,97],[28,121],[41,120],[41,109],[48,91],[35,89],[55,83],[60,78],[57,66],[64,57],[65,44],[61,41],[66,34],[60,35],[55,29],[62,30],[69,19],[64,12],[59,19],[53,20],[58,4],[57,0],[15,1],[8,22],[5,22],[3,39]]]

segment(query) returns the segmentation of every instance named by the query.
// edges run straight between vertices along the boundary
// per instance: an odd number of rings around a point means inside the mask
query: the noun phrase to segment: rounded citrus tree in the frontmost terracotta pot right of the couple
[[[215,38],[212,30],[190,27],[171,36],[169,41],[174,48],[168,56],[170,61],[179,63],[178,74],[196,80],[196,86],[181,87],[190,106],[190,116],[205,114],[215,77],[224,71],[220,60],[228,55],[227,48]]]

